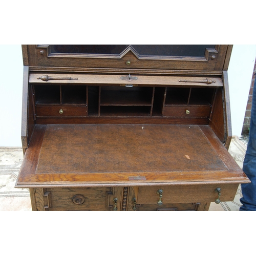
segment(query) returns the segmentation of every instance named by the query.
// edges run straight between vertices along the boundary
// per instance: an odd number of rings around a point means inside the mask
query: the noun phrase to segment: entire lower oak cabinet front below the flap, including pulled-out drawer
[[[219,187],[221,193],[215,191]],[[232,201],[237,184],[141,187],[31,188],[33,210],[208,210],[210,202]]]

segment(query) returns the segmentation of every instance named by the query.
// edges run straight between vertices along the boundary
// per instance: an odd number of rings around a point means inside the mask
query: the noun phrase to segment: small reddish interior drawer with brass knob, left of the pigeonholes
[[[62,114],[61,111],[62,110]],[[87,116],[88,108],[84,106],[36,106],[37,116]]]

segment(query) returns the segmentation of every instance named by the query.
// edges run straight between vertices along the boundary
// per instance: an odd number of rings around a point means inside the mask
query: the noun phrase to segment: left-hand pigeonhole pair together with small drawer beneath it
[[[88,87],[63,84],[32,86],[35,116],[87,116]]]

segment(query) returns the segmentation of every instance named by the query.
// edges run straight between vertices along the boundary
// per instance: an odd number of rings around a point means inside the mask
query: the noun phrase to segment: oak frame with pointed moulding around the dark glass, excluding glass
[[[211,52],[207,52],[204,57],[139,57],[131,51],[122,56],[109,58],[108,56],[97,56],[96,58],[83,57],[74,54],[52,54],[49,47],[28,45],[28,55],[31,58],[32,67],[87,67],[87,68],[147,68],[147,69],[183,69],[183,70],[222,70],[227,45],[216,46]],[[40,51],[44,50],[44,54]],[[127,66],[126,61],[131,61]]]

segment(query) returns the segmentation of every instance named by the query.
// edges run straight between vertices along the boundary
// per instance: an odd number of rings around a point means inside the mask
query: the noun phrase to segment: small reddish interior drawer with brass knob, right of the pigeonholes
[[[188,112],[189,111],[189,112]],[[210,105],[205,106],[164,106],[163,116],[170,117],[208,117]]]

